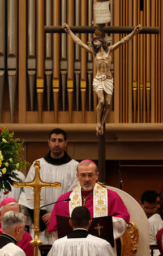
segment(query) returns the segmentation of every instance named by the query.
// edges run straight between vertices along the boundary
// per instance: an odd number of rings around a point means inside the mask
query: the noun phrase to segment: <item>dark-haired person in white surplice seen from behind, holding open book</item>
[[[114,256],[110,243],[88,233],[90,218],[87,208],[74,208],[70,219],[73,232],[56,240],[48,256]]]

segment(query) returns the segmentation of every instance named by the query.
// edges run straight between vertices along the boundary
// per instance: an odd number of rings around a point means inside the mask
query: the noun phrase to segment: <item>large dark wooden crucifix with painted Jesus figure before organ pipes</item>
[[[100,0],[98,2],[101,2]],[[103,1],[104,2],[104,1]],[[79,38],[74,35],[74,33],[95,33],[96,28],[100,30],[103,33],[103,39],[101,39],[102,42],[100,42],[100,39],[98,37],[93,39],[92,42],[87,46],[87,44],[84,44],[81,42]],[[71,38],[74,40],[76,44],[79,44],[79,46],[85,48],[86,51],[92,53],[96,67],[97,67],[97,74],[95,77],[96,80],[93,81],[94,89],[97,89],[97,97],[98,97],[98,105],[97,105],[97,124],[96,124],[96,133],[98,135],[98,166],[100,169],[100,176],[99,179],[101,182],[106,181],[106,172],[105,172],[105,121],[108,117],[108,114],[110,112],[110,100],[111,100],[111,94],[113,91],[113,80],[110,73],[110,52],[113,52],[115,49],[117,49],[121,44],[128,42],[134,35],[136,34],[159,34],[159,27],[112,27],[108,26],[106,27],[105,24],[98,24],[98,27],[96,26],[71,26],[68,27],[67,24],[63,24],[63,26],[45,26],[45,32],[46,33],[64,33],[67,32]],[[111,34],[128,34],[125,38],[123,38],[121,41],[113,44],[112,46],[104,46],[104,34],[105,33],[111,33]],[[99,36],[99,35],[98,35]],[[100,42],[100,43],[99,43]],[[102,46],[101,46],[101,45]],[[99,51],[96,52],[93,49],[93,45],[95,48],[98,48]],[[105,49],[108,49],[108,52],[105,52]],[[106,49],[106,51],[107,51]],[[94,53],[95,52],[95,53]],[[95,56],[96,55],[96,56]],[[104,57],[104,58],[103,58]],[[106,84],[106,85],[105,85]],[[101,87],[100,87],[101,86]],[[107,87],[108,90],[105,92],[103,89]],[[100,90],[98,90],[100,88]],[[103,92],[102,92],[102,90]],[[108,93],[109,92],[109,93]],[[104,108],[105,106],[105,108]],[[103,109],[104,108],[104,109]],[[102,115],[102,119],[101,119]]]

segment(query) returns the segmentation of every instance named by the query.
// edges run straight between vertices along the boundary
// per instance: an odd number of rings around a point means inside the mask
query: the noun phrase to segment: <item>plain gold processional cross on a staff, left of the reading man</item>
[[[35,236],[34,240],[32,240],[30,243],[32,246],[34,246],[34,255],[38,255],[38,246],[42,245],[42,241],[38,240],[39,237],[39,221],[40,221],[40,193],[42,188],[48,188],[48,187],[54,187],[54,188],[60,188],[61,183],[55,182],[55,183],[48,183],[43,182],[40,179],[40,161],[36,161],[34,164],[35,167],[35,178],[31,182],[14,182],[13,186],[15,188],[18,187],[28,187],[32,188],[34,191],[34,231]]]

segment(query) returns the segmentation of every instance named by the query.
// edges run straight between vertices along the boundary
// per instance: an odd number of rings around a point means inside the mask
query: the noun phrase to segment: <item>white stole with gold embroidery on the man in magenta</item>
[[[71,217],[72,210],[82,205],[81,186],[78,184],[70,194],[69,213]],[[108,216],[108,192],[107,189],[95,184],[93,189],[93,218]]]

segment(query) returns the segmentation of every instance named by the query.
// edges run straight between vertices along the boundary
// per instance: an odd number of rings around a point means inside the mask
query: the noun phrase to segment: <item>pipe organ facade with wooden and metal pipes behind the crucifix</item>
[[[92,56],[44,26],[92,26],[93,0],[0,0],[0,122],[96,123]],[[160,27],[114,52],[108,123],[163,121],[161,0],[113,0],[106,26]],[[87,43],[92,34],[77,34]],[[112,43],[126,34],[111,34]]]

